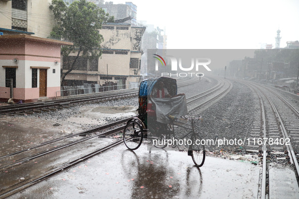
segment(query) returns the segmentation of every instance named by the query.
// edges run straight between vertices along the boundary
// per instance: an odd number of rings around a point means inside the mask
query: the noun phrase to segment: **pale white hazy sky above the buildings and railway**
[[[275,46],[278,28],[280,47],[285,47],[286,41],[299,40],[297,0],[131,2],[137,6],[138,21],[165,27],[167,48],[171,49],[253,49],[262,43]]]

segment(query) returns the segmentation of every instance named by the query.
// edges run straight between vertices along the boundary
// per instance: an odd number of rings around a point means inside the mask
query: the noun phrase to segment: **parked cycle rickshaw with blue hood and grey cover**
[[[153,95],[161,85],[171,97]],[[178,146],[178,141],[175,142],[178,140],[175,128],[183,127],[189,133],[180,139],[191,135],[186,151],[188,156],[192,157],[194,164],[201,167],[205,160],[205,147],[201,144],[201,136],[195,129],[195,124],[201,120],[201,117],[187,116],[186,97],[177,96],[177,91],[177,80],[173,78],[153,77],[143,80],[139,86],[138,116],[127,121],[123,130],[123,141],[130,150],[137,150],[144,138],[156,140],[152,144],[157,148],[166,146],[175,148]],[[186,123],[186,120],[191,121],[191,124]],[[174,140],[174,142],[169,145],[165,140]]]

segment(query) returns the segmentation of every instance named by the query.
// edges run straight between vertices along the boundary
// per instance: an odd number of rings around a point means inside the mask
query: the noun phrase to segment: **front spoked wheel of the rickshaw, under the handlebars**
[[[200,137],[194,135],[191,137],[192,145],[189,146],[188,155],[190,153],[194,164],[197,167],[201,167],[205,160],[205,148],[204,145],[200,144]],[[196,141],[197,140],[197,141]]]

